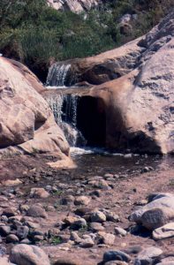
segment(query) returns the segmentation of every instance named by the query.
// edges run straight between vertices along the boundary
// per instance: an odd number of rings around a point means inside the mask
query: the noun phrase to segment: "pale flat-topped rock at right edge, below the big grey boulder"
[[[167,223],[152,233],[153,239],[169,239],[174,237],[174,223]]]

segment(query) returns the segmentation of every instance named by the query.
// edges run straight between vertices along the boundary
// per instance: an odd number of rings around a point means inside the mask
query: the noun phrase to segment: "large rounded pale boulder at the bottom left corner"
[[[9,259],[18,265],[50,265],[47,254],[40,247],[25,244],[13,246]]]

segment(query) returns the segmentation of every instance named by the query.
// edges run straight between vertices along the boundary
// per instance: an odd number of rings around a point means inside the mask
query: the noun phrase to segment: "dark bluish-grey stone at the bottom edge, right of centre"
[[[110,250],[103,254],[103,261],[125,261],[129,262],[131,261],[131,257],[128,254],[125,254],[124,252],[120,250]]]

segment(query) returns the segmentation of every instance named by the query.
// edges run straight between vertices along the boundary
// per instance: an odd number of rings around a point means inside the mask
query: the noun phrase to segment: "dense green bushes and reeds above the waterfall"
[[[56,11],[46,0],[1,0],[0,52],[42,72],[53,59],[92,56],[145,34],[171,7],[173,0],[112,0],[78,15]],[[126,13],[137,19],[129,34],[121,34]]]

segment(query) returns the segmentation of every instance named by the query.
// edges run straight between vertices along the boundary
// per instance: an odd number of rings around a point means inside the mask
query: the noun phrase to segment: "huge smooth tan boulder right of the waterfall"
[[[100,101],[107,148],[174,153],[173,21],[174,12],[139,40],[69,62],[79,82],[99,85],[79,96]]]

